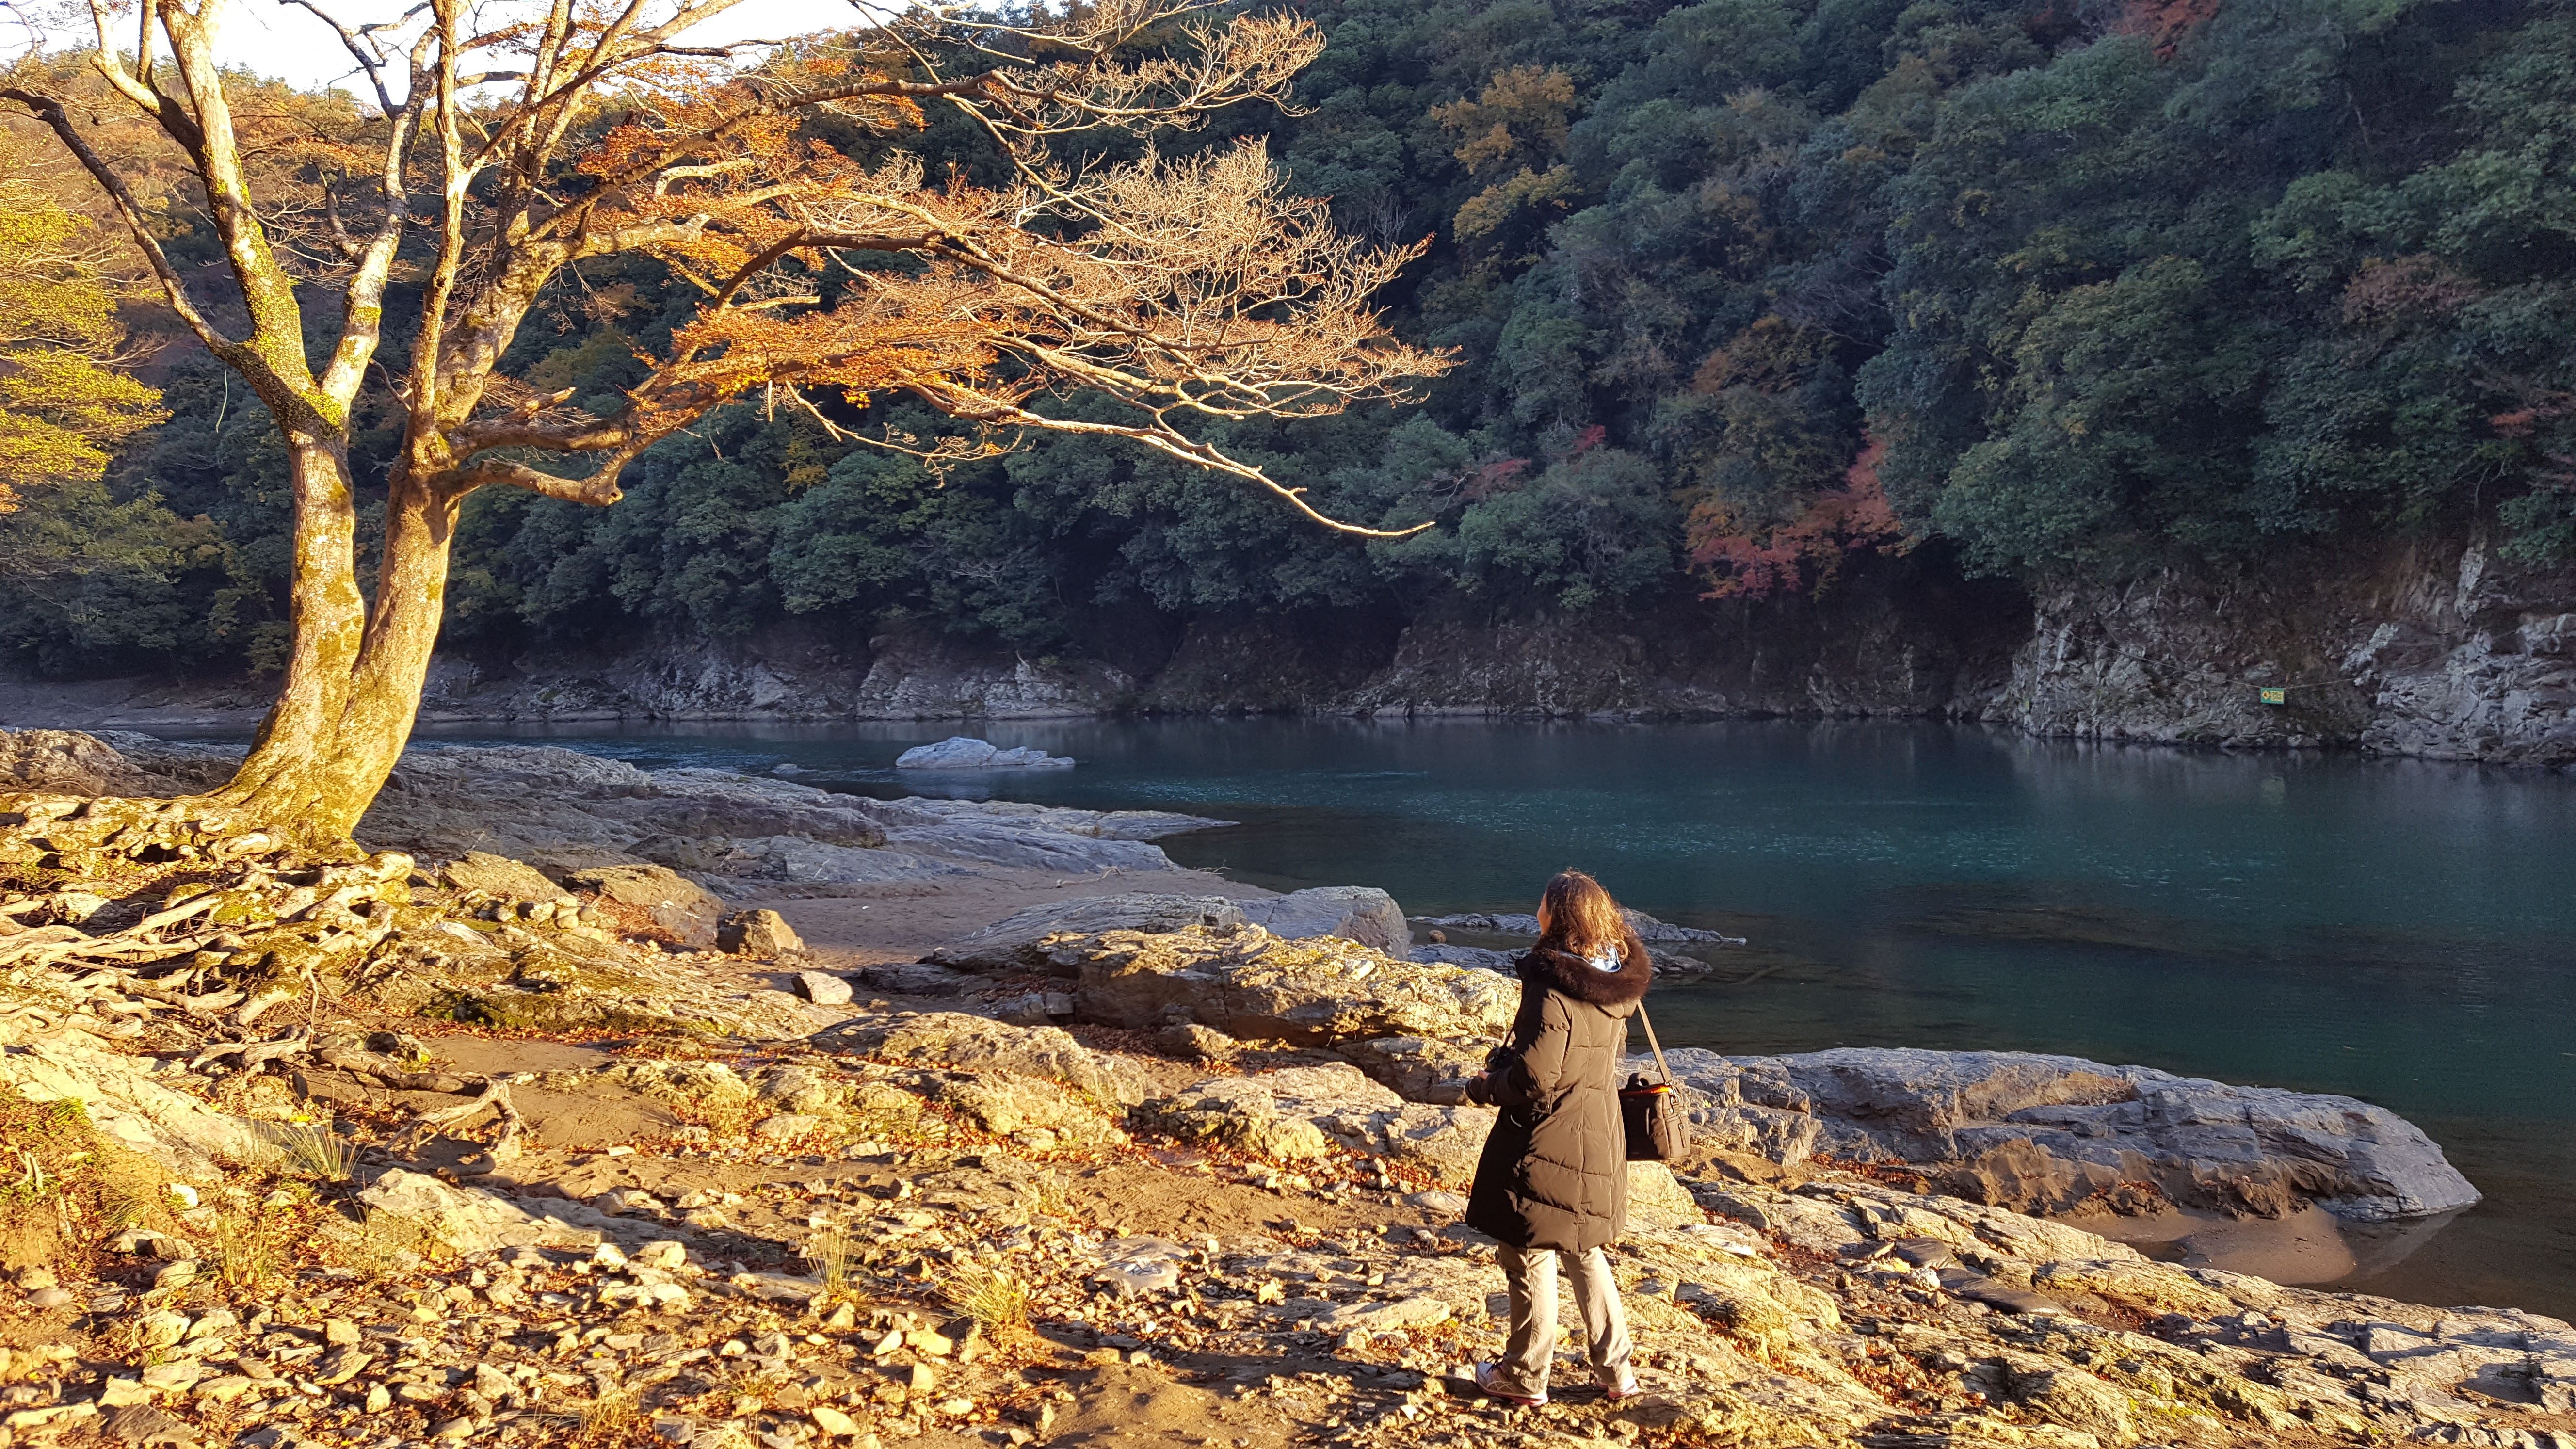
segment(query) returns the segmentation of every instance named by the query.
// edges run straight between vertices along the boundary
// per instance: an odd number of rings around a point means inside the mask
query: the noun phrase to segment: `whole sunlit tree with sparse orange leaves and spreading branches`
[[[1321,201],[1280,191],[1260,147],[1066,160],[1084,131],[1154,134],[1283,103],[1321,49],[1301,18],[1103,0],[1015,23],[933,5],[739,67],[734,46],[685,44],[737,0],[422,0],[394,26],[291,0],[337,31],[374,116],[353,137],[299,142],[312,160],[283,186],[245,168],[245,124],[214,62],[224,3],[139,0],[126,52],[111,0],[90,0],[93,64],[185,152],[229,307],[191,294],[118,160],[88,144],[62,95],[0,85],[0,101],[52,126],[113,199],[170,307],[286,438],[294,652],[250,758],[214,799],[307,841],[345,838],[410,737],[459,505],[477,487],[605,505],[639,451],[744,394],[817,420],[817,392],[909,394],[958,433],[876,441],[961,459],[1030,431],[1105,433],[1376,536],[1226,456],[1203,425],[1394,400],[1445,366],[1394,343],[1370,307],[1412,253],[1340,235]],[[1010,180],[930,178],[902,152],[871,168],[806,131],[817,116],[902,131],[925,106],[981,126]],[[657,258],[703,302],[623,407],[592,418],[500,361],[549,291],[611,255]],[[384,379],[394,284],[417,286],[420,307],[402,376]],[[325,291],[337,333],[309,348],[322,330],[304,309]],[[247,322],[227,330],[219,312]],[[371,371],[402,423],[374,598],[358,588],[348,472]],[[1061,407],[1074,392],[1113,400],[1115,420]]]

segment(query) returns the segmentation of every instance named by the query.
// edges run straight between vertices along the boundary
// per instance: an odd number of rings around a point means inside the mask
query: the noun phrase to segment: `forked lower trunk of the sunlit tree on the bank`
[[[294,449],[294,652],[250,758],[214,799],[270,833],[348,841],[420,714],[446,608],[456,500],[397,480],[374,606],[358,593],[355,508],[337,446]]]

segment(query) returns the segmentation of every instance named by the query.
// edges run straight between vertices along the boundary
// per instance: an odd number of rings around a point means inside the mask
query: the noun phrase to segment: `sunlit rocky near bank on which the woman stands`
[[[1489,1111],[1453,1085],[1512,982],[1391,951],[1378,892],[1206,895],[1128,851],[853,964],[750,931],[786,877],[641,848],[912,861],[775,897],[804,910],[1167,822],[425,750],[374,856],[312,861],[70,789],[216,768],[126,745],[0,737],[10,1444],[2576,1446],[2563,1323],[2154,1263],[1935,1181],[2002,1183],[1981,1152],[2020,1132],[2050,1191],[2120,1152],[2159,1194],[2465,1189],[2362,1104],[1677,1055],[1710,1150],[1636,1168],[1615,1253],[1646,1395],[1569,1361],[1502,1410],[1453,1372],[1502,1289],[1455,1222]]]

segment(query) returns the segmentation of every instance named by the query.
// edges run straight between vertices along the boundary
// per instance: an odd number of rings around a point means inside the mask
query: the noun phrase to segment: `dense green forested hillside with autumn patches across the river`
[[[1430,237],[1386,307],[1458,366],[1419,407],[1226,446],[1329,513],[1437,529],[1334,536],[1118,441],[1041,438],[940,480],[739,405],[657,443],[613,508],[477,495],[446,639],[817,616],[1079,650],[1121,608],[1832,593],[1857,552],[2027,583],[2473,523],[2506,557],[2576,552],[2561,8],[1303,10],[1329,34],[1303,113],[1234,124],[1267,129],[1345,227]],[[1226,142],[1221,121],[1162,144]],[[997,165],[938,113],[891,144],[969,180]],[[185,245],[185,206],[170,227]],[[652,263],[598,266],[515,361],[608,413],[693,304]],[[39,673],[281,650],[281,441],[204,358],[173,351],[155,382],[170,420],[103,480],[0,516],[0,647]]]

